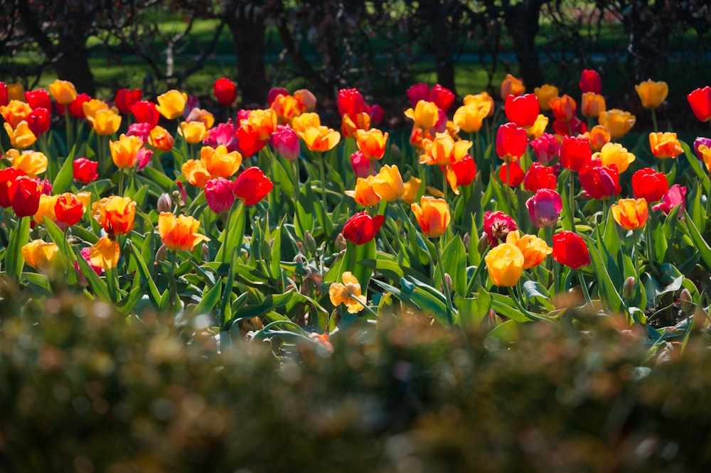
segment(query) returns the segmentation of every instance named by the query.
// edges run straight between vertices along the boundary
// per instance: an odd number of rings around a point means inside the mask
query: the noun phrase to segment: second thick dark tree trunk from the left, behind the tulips
[[[247,9],[237,3],[231,1],[225,8],[225,20],[235,43],[237,85],[245,106],[263,107],[269,93],[264,65],[264,16],[259,8]]]

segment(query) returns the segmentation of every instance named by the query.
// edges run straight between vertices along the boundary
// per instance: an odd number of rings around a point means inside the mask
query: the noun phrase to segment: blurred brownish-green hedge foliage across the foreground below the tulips
[[[611,317],[515,344],[383,319],[317,344],[0,288],[1,472],[701,471],[711,352]],[[249,337],[247,337],[248,339]]]

